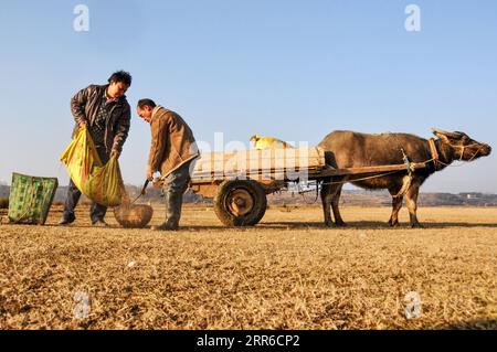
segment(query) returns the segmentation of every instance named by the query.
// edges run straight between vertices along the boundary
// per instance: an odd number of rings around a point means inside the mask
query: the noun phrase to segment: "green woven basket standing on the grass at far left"
[[[9,195],[9,221],[15,224],[43,225],[49,216],[59,181],[12,173]]]

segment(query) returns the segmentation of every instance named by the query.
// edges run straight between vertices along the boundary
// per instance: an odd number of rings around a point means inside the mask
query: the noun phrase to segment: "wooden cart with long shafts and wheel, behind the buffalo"
[[[264,216],[266,195],[292,182],[319,181],[338,175],[378,173],[425,168],[426,163],[334,169],[318,147],[242,150],[202,153],[194,166],[190,189],[213,199],[214,211],[228,226],[252,226]]]

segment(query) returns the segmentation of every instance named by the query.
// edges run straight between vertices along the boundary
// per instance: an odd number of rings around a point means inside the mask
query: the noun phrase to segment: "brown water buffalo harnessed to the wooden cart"
[[[434,140],[436,151],[432,151],[429,140],[408,134],[367,135],[355,131],[334,131],[326,136],[319,147],[325,150],[326,163],[332,168],[400,164],[404,163],[404,153],[411,162],[431,160],[437,153],[438,161],[431,161],[427,163],[427,168],[415,170],[411,173],[411,178],[405,170],[362,181],[358,179],[363,179],[370,174],[325,179],[321,189],[325,225],[332,226],[330,207],[334,211],[335,225],[346,225],[341,218],[338,204],[343,183],[351,182],[363,189],[389,190],[392,195],[392,215],[389,223],[392,226],[399,225],[398,215],[405,195],[411,226],[421,227],[416,217],[416,203],[417,193],[423,182],[432,173],[444,169],[454,160],[473,161],[491,152],[490,146],[477,142],[464,132],[446,132],[433,129],[433,134],[438,138]]]

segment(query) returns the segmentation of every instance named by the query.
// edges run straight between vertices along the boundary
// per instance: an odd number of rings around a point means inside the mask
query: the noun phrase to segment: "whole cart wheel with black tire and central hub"
[[[255,181],[232,180],[219,185],[214,211],[228,226],[253,226],[266,212],[266,192]]]

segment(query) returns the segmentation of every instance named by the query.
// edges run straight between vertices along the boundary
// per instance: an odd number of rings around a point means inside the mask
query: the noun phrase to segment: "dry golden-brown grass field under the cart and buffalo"
[[[398,228],[388,207],[342,213],[336,230],[317,206],[273,206],[253,228],[201,205],[177,233],[121,230],[112,214],[92,228],[85,206],[68,227],[61,209],[46,226],[0,225],[0,328],[497,328],[497,209],[424,207],[424,230],[405,210]]]

